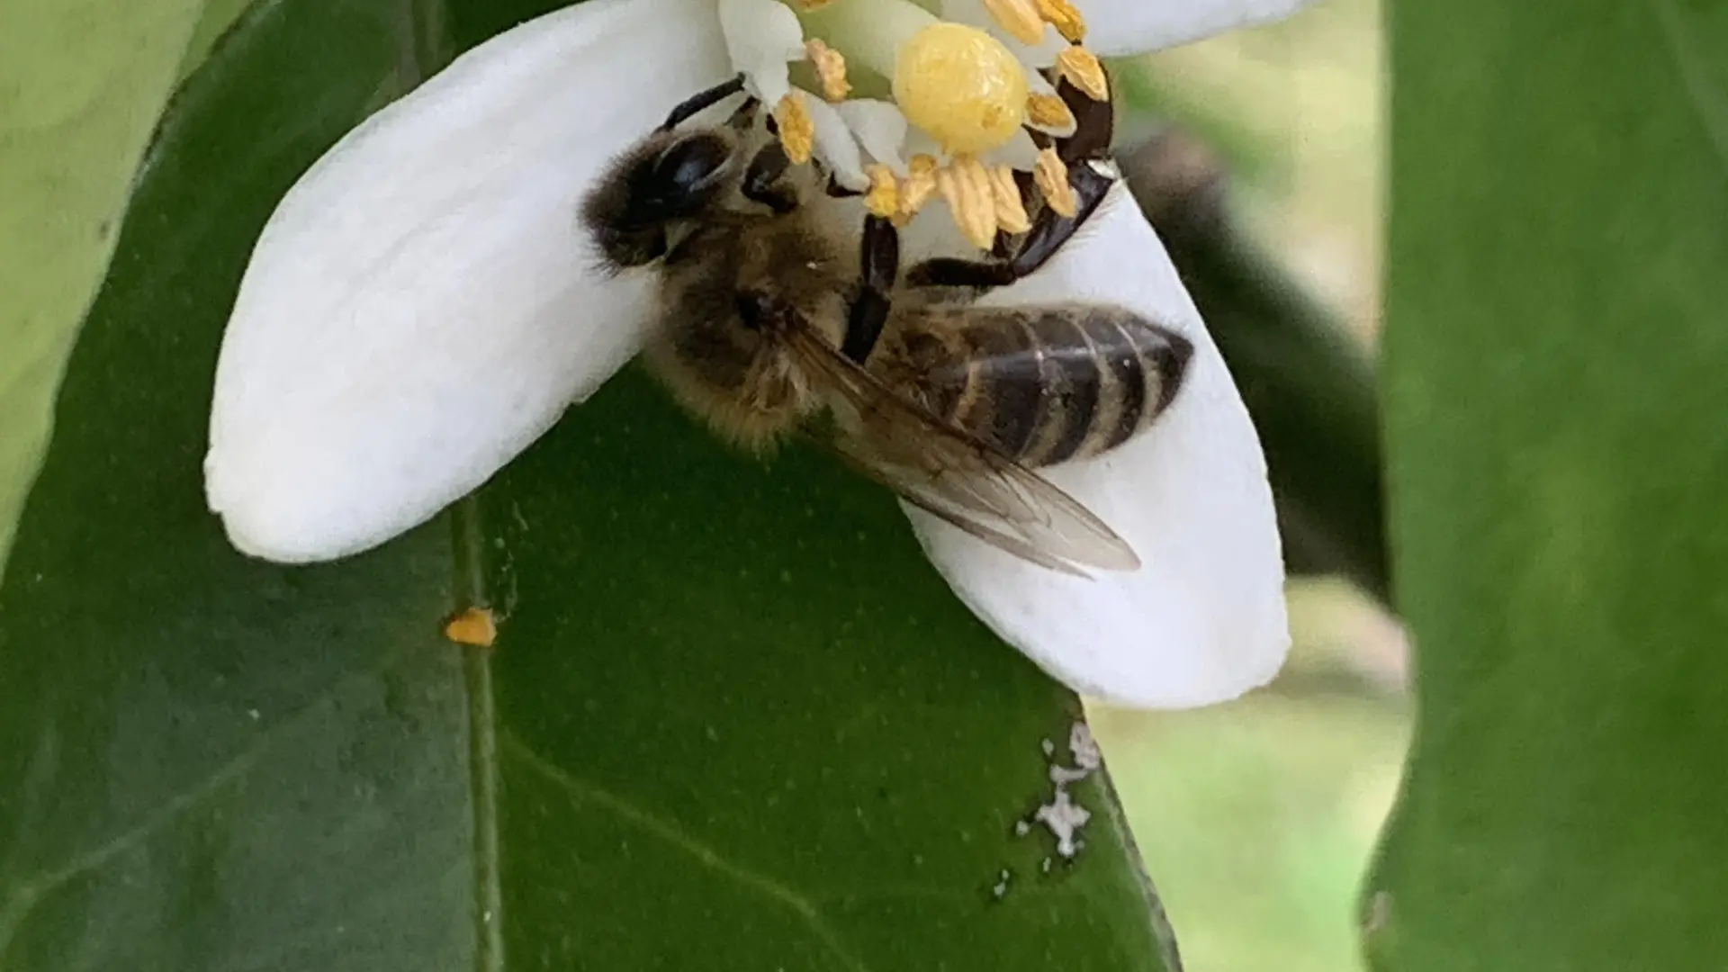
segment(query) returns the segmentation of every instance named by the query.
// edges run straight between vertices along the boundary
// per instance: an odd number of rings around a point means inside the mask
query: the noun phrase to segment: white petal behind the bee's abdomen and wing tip
[[[926,553],[997,635],[1075,690],[1142,707],[1234,699],[1284,661],[1284,564],[1260,439],[1153,228],[1118,185],[1045,268],[990,303],[1099,301],[1194,342],[1175,403],[1104,457],[1047,470],[1144,566],[1063,576],[907,508]]]

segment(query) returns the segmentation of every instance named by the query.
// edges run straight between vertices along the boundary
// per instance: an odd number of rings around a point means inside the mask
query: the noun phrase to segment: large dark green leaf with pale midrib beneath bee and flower
[[[0,586],[0,967],[1173,967],[1104,778],[1075,861],[1018,834],[1075,697],[890,496],[636,374],[377,552],[226,545],[199,467],[245,254],[423,28],[264,5],[164,123]],[[491,652],[439,633],[473,602]]]

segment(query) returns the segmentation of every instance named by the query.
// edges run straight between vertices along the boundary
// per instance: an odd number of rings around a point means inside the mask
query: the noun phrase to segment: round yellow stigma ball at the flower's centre
[[[935,22],[900,45],[893,100],[945,152],[987,152],[1007,144],[1026,118],[1026,71],[978,28]]]

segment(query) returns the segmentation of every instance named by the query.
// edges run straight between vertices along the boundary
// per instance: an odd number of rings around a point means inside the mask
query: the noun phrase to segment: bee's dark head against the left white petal
[[[582,202],[582,223],[613,268],[665,256],[674,223],[700,218],[734,182],[727,130],[657,131],[620,156]]]

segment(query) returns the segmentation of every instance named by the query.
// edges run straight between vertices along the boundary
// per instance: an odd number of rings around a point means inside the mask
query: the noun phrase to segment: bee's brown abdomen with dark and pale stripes
[[[1194,348],[1113,306],[911,313],[890,348],[897,384],[1030,467],[1108,451],[1175,398]]]

